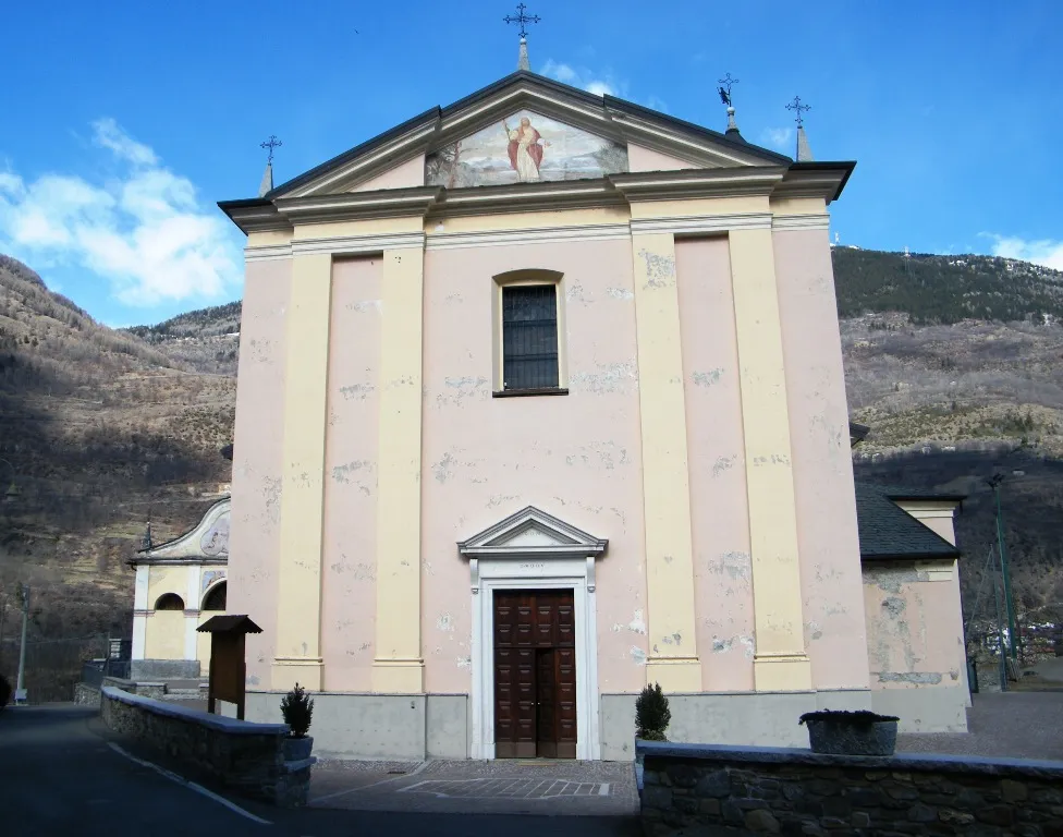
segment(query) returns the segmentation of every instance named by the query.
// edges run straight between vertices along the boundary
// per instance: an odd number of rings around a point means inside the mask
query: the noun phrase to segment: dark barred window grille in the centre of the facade
[[[558,387],[554,284],[502,288],[502,389]]]

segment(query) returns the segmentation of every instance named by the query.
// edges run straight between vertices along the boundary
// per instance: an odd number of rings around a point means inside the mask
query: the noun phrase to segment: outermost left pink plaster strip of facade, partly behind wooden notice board
[[[247,684],[269,684],[277,622],[285,313],[292,263],[252,262],[240,327],[229,533],[228,612],[262,629],[247,636]]]

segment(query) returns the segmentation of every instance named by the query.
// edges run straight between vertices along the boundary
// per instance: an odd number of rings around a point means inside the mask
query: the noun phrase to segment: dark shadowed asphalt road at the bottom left
[[[609,837],[640,834],[632,817],[378,811],[280,811],[228,796],[245,813],[117,752],[91,709],[0,712],[0,822],[50,837]],[[137,756],[151,759],[143,751]],[[157,760],[156,760],[157,761]],[[246,814],[268,821],[248,818]],[[0,829],[2,830],[2,829]]]

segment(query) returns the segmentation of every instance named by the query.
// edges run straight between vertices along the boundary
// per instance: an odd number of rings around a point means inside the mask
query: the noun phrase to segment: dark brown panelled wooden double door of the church
[[[494,592],[494,755],[576,757],[572,590]]]

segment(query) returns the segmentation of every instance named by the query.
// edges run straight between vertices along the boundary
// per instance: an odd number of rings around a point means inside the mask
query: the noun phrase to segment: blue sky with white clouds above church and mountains
[[[215,207],[506,75],[509,2],[11,3],[0,252],[110,325],[240,296]],[[1063,269],[1063,3],[533,0],[532,68],[750,142],[855,159],[843,244]]]

